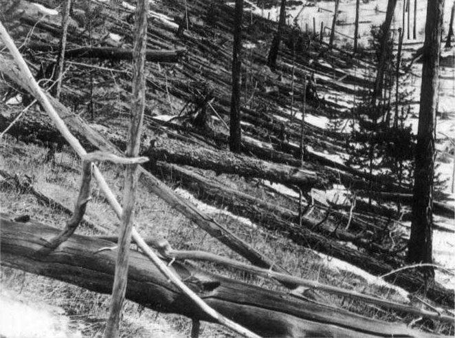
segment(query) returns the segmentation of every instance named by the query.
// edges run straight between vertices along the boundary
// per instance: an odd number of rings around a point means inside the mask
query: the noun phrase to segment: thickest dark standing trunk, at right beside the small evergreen
[[[414,171],[412,225],[408,261],[432,263],[432,213],[434,179],[434,141],[438,109],[439,54],[443,30],[444,0],[428,0],[419,112],[419,131]],[[429,277],[433,268],[426,268]]]

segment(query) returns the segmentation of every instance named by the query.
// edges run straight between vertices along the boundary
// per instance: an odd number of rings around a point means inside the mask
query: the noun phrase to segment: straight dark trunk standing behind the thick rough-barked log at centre
[[[234,49],[232,51],[232,98],[230,118],[229,147],[231,151],[241,151],[242,130],[240,127],[240,92],[242,71],[242,24],[243,24],[243,0],[236,0],[234,18]]]

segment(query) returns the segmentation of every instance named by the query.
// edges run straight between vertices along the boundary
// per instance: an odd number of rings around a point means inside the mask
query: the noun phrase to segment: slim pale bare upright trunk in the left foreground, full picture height
[[[147,48],[147,14],[148,0],[138,0],[135,13],[135,41],[133,47],[133,94],[131,102],[131,124],[129,127],[129,142],[126,146],[126,156],[137,157],[139,154],[142,120],[145,107],[145,57]],[[133,210],[137,189],[138,165],[127,165],[123,191],[122,222],[118,235],[118,254],[115,261],[115,277],[109,319],[104,337],[119,337],[119,321],[122,304],[125,299],[126,283],[128,281],[129,251],[131,232],[133,231]]]

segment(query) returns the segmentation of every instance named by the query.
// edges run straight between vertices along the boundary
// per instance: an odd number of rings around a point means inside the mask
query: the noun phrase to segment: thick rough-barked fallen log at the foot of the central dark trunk
[[[217,173],[234,173],[247,178],[256,177],[272,182],[297,185],[301,189],[309,190],[313,187],[322,187],[322,179],[315,172],[276,165],[264,160],[233,154],[230,151],[202,149],[185,142],[176,142],[169,138],[157,140],[153,147],[149,147],[143,156],[151,161],[165,160],[179,165],[190,165]]]

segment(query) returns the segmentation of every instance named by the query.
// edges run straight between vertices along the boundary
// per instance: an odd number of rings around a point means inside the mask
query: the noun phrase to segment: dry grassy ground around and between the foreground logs
[[[1,145],[1,154],[1,169],[22,178],[27,177],[35,189],[72,209],[80,180],[80,165],[75,154],[69,149],[65,148],[56,153],[54,161],[46,161],[47,148],[25,144],[5,136]],[[122,169],[112,165],[101,165],[100,167],[111,189],[120,200]],[[253,184],[253,182],[247,182],[243,178],[234,178],[233,176],[223,176],[219,179],[227,184],[243,186],[244,188],[245,186],[251,187]],[[251,188],[250,191],[254,191],[254,189]],[[256,191],[255,194],[257,197],[261,197],[261,193],[263,194],[262,198],[269,198],[269,196],[264,195],[263,191]],[[144,237],[164,237],[176,249],[206,250],[241,259],[198,229],[195,224],[186,220],[177,211],[171,209],[157,196],[148,193],[146,189],[140,188],[137,194],[136,224],[138,231]],[[88,204],[85,219],[95,224],[96,227],[80,226],[77,232],[85,235],[114,234],[118,220],[100,194],[96,182],[93,183],[91,196],[92,200]],[[279,196],[275,196],[275,199],[277,199],[277,203],[286,204],[284,199],[279,200]],[[58,227],[61,227],[68,218],[67,215],[52,206],[38,203],[34,196],[17,191],[8,183],[1,184],[0,203],[2,212],[30,215]],[[388,299],[397,300],[400,298],[395,291],[368,285],[362,277],[353,273],[338,269],[331,270],[313,251],[293,244],[279,233],[265,231],[259,226],[247,226],[222,210],[210,213],[210,215],[227,226],[230,231],[252,244],[260,252],[268,257],[274,257],[278,264],[287,268],[293,275],[344,288],[352,288]],[[201,264],[201,266],[213,273],[242,279],[258,286],[282,289],[282,286],[269,280],[245,275],[245,273],[226,270],[212,264]],[[108,315],[108,295],[91,293],[76,286],[23,273],[5,266],[1,267],[1,285],[3,290],[19,293],[20,297],[27,299],[28,302],[45,302],[53,306],[60,306],[63,308],[64,314],[71,319],[71,325],[78,328],[83,337],[101,337],[104,322]],[[320,302],[347,308],[368,317],[388,321],[404,320],[410,322],[412,320],[410,317],[399,317],[397,313],[344,299],[344,297],[322,292],[317,292],[315,297]],[[122,319],[122,337],[149,337],[151,335],[183,337],[189,335],[190,328],[191,321],[189,319],[177,315],[155,313],[131,302],[126,302]],[[441,330],[444,331],[445,328],[441,328]],[[201,337],[231,336],[232,334],[228,330],[220,326],[214,324],[203,324],[202,326]]]

